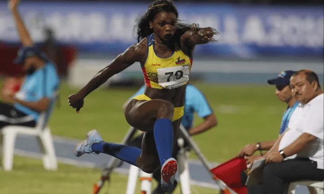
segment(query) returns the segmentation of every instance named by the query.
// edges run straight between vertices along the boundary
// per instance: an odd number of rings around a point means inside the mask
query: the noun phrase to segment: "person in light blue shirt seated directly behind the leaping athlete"
[[[133,96],[143,94],[144,90],[145,90],[145,85],[142,86]],[[133,96],[130,99],[132,99]],[[195,127],[192,127],[195,112],[197,112],[197,114],[200,118],[204,118],[204,122],[200,123],[199,125],[197,125]],[[184,126],[184,128],[188,130],[188,133],[190,135],[196,135],[196,134],[205,132],[208,129],[211,129],[212,127],[216,126],[217,123],[218,123],[217,118],[214,115],[212,108],[208,104],[208,101],[206,100],[204,94],[201,93],[201,91],[199,91],[193,85],[187,84],[186,94],[185,94],[184,115],[182,117],[182,122],[181,122],[181,124]],[[131,145],[135,146],[137,148],[141,148],[141,142],[142,142],[143,135],[144,135],[144,133],[138,135],[131,142]],[[185,147],[186,146],[187,146],[187,142],[185,142]],[[180,147],[176,143],[173,148],[172,157],[176,158],[179,151],[180,151]],[[161,178],[160,169],[156,170],[153,173],[153,177],[158,182],[158,185],[152,194],[165,193],[165,191],[161,188],[161,185],[160,185],[160,178]],[[174,189],[176,188],[176,184],[177,184],[177,182],[175,180]]]

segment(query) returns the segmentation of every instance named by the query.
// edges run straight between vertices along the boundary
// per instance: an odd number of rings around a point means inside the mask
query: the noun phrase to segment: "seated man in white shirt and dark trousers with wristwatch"
[[[264,156],[263,194],[287,193],[289,183],[298,180],[324,180],[324,99],[318,77],[310,70],[300,70],[291,77],[290,87],[300,105]]]

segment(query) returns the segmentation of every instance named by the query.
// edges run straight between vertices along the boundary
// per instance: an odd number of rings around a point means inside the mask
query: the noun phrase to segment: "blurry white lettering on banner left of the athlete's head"
[[[53,14],[49,18],[49,26],[58,31],[57,38],[65,41],[134,41],[133,19],[124,15],[113,15],[108,18],[100,13],[82,15],[72,13],[63,17]]]

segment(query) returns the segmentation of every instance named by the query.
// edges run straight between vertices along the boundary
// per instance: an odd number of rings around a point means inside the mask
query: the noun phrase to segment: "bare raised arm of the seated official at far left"
[[[24,46],[32,46],[33,42],[32,39],[29,35],[29,32],[23,22],[23,20],[20,17],[20,14],[18,12],[18,4],[19,4],[19,0],[10,0],[9,1],[9,9],[13,14],[14,20],[16,22],[16,26],[17,26],[17,31],[21,40],[21,43]]]

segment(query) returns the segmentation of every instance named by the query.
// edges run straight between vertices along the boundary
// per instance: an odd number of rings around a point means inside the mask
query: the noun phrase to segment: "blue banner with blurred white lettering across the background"
[[[195,56],[255,58],[262,56],[323,56],[322,7],[232,6],[176,3],[179,19],[214,27],[217,43],[199,45]],[[137,42],[136,20],[147,4],[28,3],[20,13],[35,42],[51,27],[57,42],[74,44],[80,52],[119,54]],[[15,23],[0,3],[0,41],[18,43]]]

